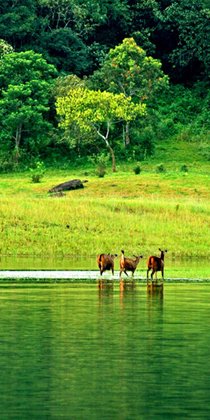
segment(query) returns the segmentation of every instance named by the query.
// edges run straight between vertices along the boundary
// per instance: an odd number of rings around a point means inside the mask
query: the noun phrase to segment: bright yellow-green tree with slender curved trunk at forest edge
[[[146,112],[145,105],[134,104],[131,97],[123,93],[93,91],[84,87],[70,89],[68,95],[58,97],[56,107],[61,127],[68,130],[76,124],[81,131],[94,131],[103,139],[112,158],[113,172],[116,171],[116,160],[110,142],[111,126],[120,121],[133,121]]]

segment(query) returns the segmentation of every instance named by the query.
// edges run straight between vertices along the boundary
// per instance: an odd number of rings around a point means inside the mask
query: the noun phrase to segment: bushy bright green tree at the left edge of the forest
[[[38,154],[46,145],[54,66],[33,51],[5,54],[0,60],[0,142],[16,162],[21,152]]]

